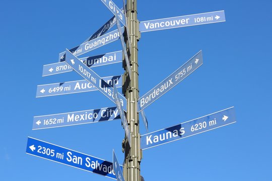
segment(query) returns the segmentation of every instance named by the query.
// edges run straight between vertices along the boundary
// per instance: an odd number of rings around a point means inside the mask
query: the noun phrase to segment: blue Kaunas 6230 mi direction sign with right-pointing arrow
[[[234,108],[187,121],[169,128],[141,136],[141,149],[145,150],[189,136],[227,126],[236,122]]]

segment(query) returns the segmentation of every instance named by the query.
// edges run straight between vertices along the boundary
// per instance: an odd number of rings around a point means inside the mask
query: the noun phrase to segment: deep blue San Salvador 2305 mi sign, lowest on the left
[[[28,137],[26,153],[116,179],[111,162]]]

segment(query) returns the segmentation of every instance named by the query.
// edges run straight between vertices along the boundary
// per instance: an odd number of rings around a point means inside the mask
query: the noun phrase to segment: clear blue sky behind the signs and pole
[[[122,7],[121,0],[114,1]],[[140,96],[199,50],[203,65],[145,109],[156,131],[234,106],[237,123],[143,151],[145,180],[263,180],[272,175],[272,2],[138,1],[140,21],[225,10],[226,22],[146,32],[139,41]],[[123,162],[121,121],[32,130],[34,116],[115,106],[100,92],[35,98],[45,64],[84,42],[111,17],[99,1],[2,1],[0,6],[0,180],[111,180],[26,154],[28,136]],[[117,29],[114,26],[111,31]],[[121,50],[120,41],[84,56]],[[81,56],[82,57],[82,56]],[[93,68],[120,75],[121,63]],[[119,88],[119,92],[121,89]],[[143,122],[141,134],[146,134]]]

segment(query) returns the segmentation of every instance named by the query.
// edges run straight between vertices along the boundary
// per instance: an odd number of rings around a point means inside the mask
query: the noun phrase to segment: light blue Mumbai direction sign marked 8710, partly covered
[[[122,51],[105,53],[102,55],[90,56],[80,58],[83,63],[88,67],[97,67],[102,65],[109,65],[112,63],[122,62]],[[43,65],[42,76],[54,75],[58,73],[70,72],[73,71],[73,68],[67,65],[65,62],[57,62],[52,64]]]

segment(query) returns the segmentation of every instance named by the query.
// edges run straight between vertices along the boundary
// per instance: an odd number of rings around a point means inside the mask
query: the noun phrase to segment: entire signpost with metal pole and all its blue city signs
[[[202,65],[203,60],[202,52],[199,51],[139,99],[138,41],[140,40],[140,32],[224,22],[225,12],[217,11],[201,13],[143,21],[139,23],[139,20],[137,19],[137,0],[127,0],[127,6],[125,6],[125,1],[123,0],[124,13],[122,13],[112,0],[101,1],[114,16],[84,43],[70,50],[66,49],[65,52],[60,53],[58,63],[43,66],[42,76],[75,70],[85,79],[38,85],[36,97],[74,94],[98,90],[114,102],[116,107],[35,116],[33,119],[32,129],[38,130],[74,126],[121,119],[125,132],[125,139],[122,142],[122,149],[125,156],[123,173],[114,150],[113,163],[111,163],[78,151],[28,137],[26,153],[61,164],[73,166],[75,168],[98,173],[117,179],[118,181],[139,181],[141,179],[140,163],[142,161],[142,150],[207,132],[236,122],[234,108],[231,107],[141,136],[139,113],[141,114],[146,130],[148,131],[148,121],[144,109],[196,70],[200,65]],[[120,22],[125,26],[126,40],[123,37],[124,27],[121,27]],[[117,30],[106,34],[106,32],[115,24],[117,25]],[[119,38],[122,45],[122,51],[85,58],[77,57]],[[127,47],[129,51],[127,50]],[[91,69],[96,66],[121,62],[123,59],[122,55],[124,55],[126,63],[126,66],[124,66],[125,73],[122,83],[120,81],[121,75],[101,78]],[[125,97],[117,91],[117,87],[120,87],[121,85],[122,93]],[[115,176],[115,173],[117,177]]]

